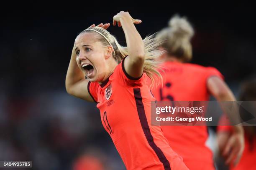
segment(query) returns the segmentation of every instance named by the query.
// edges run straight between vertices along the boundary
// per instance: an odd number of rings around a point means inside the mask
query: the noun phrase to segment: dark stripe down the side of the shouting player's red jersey
[[[138,116],[141,122],[141,127],[143,129],[144,135],[146,136],[146,139],[148,141],[148,144],[151,146],[151,148],[155,151],[157,157],[161,161],[161,163],[164,165],[164,170],[171,170],[171,166],[169,161],[166,159],[164,153],[161,151],[161,149],[156,146],[154,143],[154,138],[151,135],[149,126],[148,126],[148,121],[144,109],[144,105],[142,102],[142,96],[141,96],[141,89],[140,88],[134,88],[133,89],[135,101],[136,101],[136,107],[138,111]]]

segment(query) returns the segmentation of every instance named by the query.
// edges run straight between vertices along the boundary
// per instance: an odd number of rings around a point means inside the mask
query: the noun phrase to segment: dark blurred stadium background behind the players
[[[120,10],[142,20],[136,25],[142,37],[167,26],[176,13],[187,16],[195,28],[192,62],[216,67],[236,95],[241,82],[256,75],[252,4],[147,3],[150,6],[31,2],[1,7],[0,160],[31,160],[35,170],[70,170],[82,155],[99,164],[90,155],[108,169],[124,169],[95,104],[65,90],[76,35],[94,23],[112,23]],[[110,26],[109,31],[125,45],[121,28]]]

